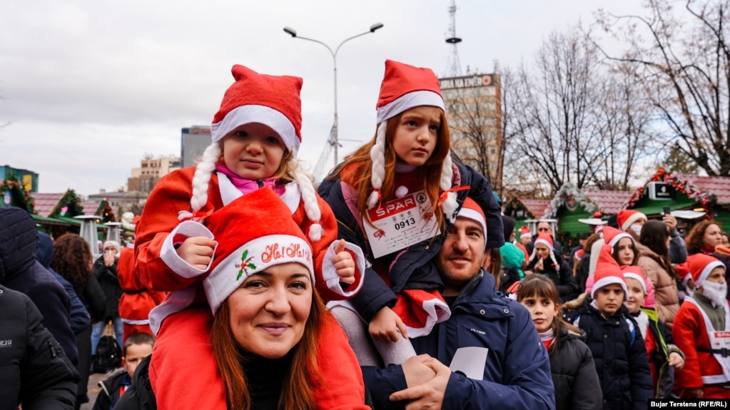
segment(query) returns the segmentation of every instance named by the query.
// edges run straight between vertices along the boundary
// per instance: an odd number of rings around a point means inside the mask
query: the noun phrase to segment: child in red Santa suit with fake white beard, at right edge
[[[726,266],[710,255],[687,258],[696,289],[675,317],[672,336],[685,353],[675,387],[683,398],[730,398],[730,306]]]

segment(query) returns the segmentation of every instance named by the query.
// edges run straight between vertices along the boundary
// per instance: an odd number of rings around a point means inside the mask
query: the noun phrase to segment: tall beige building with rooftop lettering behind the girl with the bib
[[[499,74],[470,74],[439,79],[444,96],[451,148],[502,191],[502,84]]]

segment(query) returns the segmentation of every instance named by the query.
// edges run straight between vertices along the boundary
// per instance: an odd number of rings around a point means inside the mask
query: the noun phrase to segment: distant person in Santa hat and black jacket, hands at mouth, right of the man
[[[578,284],[568,263],[556,258],[553,237],[550,233],[538,233],[532,255],[527,260],[526,274],[543,274],[548,276],[558,287],[561,298],[578,293]]]

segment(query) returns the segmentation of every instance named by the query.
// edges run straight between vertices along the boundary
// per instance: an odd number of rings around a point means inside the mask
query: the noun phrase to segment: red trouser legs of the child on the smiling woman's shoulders
[[[163,322],[150,362],[158,409],[226,410],[226,393],[210,344],[213,317],[207,305]],[[321,330],[317,362],[323,384],[312,386],[317,409],[369,410],[360,365],[334,317]]]

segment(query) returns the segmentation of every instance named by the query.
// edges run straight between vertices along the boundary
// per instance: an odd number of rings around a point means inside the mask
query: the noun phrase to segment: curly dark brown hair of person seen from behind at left
[[[82,286],[93,274],[91,245],[76,233],[66,233],[53,243],[50,267],[74,286]]]

